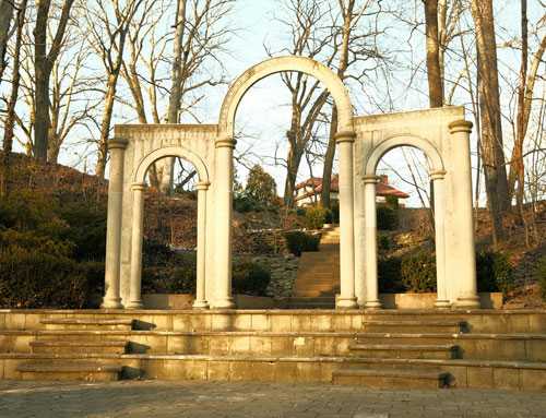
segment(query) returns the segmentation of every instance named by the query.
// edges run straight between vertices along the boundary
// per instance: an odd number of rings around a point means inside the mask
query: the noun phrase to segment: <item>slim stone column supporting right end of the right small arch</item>
[[[446,284],[446,220],[443,207],[444,170],[430,171],[435,191],[435,232],[436,232],[436,282],[437,296],[435,308],[450,308]]]

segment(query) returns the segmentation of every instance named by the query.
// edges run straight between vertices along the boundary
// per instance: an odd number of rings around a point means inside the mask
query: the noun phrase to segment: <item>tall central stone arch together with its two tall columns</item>
[[[306,57],[276,57],[262,61],[245,71],[229,87],[222,104],[218,120],[218,139],[216,140],[218,157],[218,266],[232,264],[232,183],[234,121],[237,107],[245,93],[258,81],[268,75],[284,71],[297,71],[311,75],[322,82],[334,98],[339,114],[337,133],[335,135],[340,148],[340,264],[341,295],[337,308],[354,309],[358,307],[355,296],[355,248],[353,239],[353,143],[356,133],[353,127],[353,106],[341,79],[327,65]],[[215,308],[233,308],[230,297],[230,268],[219,267],[216,271]]]

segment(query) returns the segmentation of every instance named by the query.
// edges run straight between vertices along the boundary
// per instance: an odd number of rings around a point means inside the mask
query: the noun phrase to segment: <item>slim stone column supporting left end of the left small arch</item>
[[[131,283],[127,309],[142,309],[142,235],[144,232],[144,190],[146,183],[131,183],[133,193],[133,225],[131,232]]]

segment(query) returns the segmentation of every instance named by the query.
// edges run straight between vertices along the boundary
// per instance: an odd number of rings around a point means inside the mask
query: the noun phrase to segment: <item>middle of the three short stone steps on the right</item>
[[[360,357],[378,358],[459,358],[459,346],[444,345],[402,345],[402,344],[352,344],[351,354]]]

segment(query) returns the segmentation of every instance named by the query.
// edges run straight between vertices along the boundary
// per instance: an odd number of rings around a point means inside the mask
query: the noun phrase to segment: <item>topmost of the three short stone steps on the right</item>
[[[461,333],[467,330],[464,321],[363,321],[365,332],[429,332]]]

